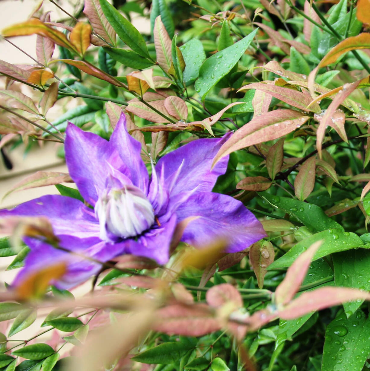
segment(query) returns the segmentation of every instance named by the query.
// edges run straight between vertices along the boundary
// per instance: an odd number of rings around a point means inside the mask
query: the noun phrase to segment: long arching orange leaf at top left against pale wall
[[[4,37],[26,36],[33,34],[48,37],[48,39],[52,40],[56,44],[76,52],[76,48],[68,41],[64,33],[53,29],[37,18],[32,18],[23,23],[13,24],[13,26],[7,27],[2,32]]]

